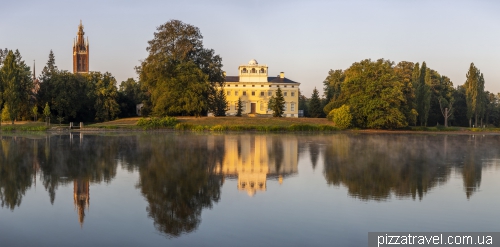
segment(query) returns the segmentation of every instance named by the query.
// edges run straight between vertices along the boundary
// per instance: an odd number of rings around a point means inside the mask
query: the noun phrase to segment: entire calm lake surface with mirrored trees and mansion
[[[500,232],[500,136],[3,134],[1,246],[366,246]]]

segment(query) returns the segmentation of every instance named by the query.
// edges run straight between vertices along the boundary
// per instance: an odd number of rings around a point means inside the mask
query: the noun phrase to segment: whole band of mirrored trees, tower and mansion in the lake
[[[300,153],[309,151],[304,160],[313,168],[322,160],[327,183],[345,186],[361,200],[422,200],[454,173],[471,198],[482,169],[500,158],[499,142],[500,136],[472,135],[4,135],[0,202],[14,211],[39,177],[53,204],[58,186],[73,183],[83,226],[90,185],[110,183],[121,165],[139,173],[136,188],[155,228],[178,237],[196,230],[202,211],[220,201],[225,178],[237,180],[237,189],[253,196],[266,191],[270,179],[283,183],[298,174]]]

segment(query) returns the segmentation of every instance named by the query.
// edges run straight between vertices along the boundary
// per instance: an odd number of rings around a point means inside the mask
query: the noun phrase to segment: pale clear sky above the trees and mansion
[[[172,19],[198,27],[205,48],[222,57],[227,75],[256,59],[269,76],[285,72],[310,96],[331,69],[364,59],[425,61],[465,82],[473,62],[485,88],[500,92],[500,1],[460,0],[183,0],[2,1],[0,48],[19,49],[36,73],[53,50],[72,71],[72,45],[82,20],[90,70],[118,81],[136,78],[156,27]]]

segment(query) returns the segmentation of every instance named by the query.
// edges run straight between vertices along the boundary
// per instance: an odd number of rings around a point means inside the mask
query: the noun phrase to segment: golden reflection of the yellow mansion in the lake
[[[252,196],[266,191],[266,180],[283,178],[298,172],[298,145],[293,136],[225,136],[224,159],[218,172],[238,178],[238,190]]]

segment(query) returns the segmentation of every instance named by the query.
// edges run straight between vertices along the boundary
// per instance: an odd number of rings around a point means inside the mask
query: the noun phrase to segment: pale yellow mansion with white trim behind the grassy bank
[[[268,66],[252,59],[238,67],[238,76],[226,76],[226,115],[236,115],[240,99],[243,114],[271,116],[273,112],[268,107],[269,99],[276,96],[276,91],[281,88],[286,102],[283,117],[298,117],[299,86],[300,83],[286,78],[284,72],[275,77],[268,76]]]

